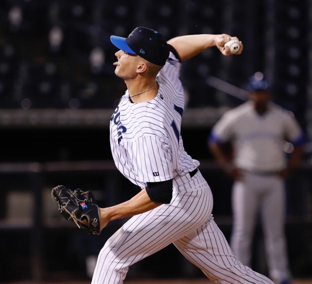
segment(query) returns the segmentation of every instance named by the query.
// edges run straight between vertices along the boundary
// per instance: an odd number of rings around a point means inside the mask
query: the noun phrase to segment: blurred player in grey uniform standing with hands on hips
[[[225,113],[213,127],[210,150],[234,178],[234,215],[231,246],[244,265],[250,266],[253,231],[260,211],[271,278],[290,283],[284,236],[284,178],[298,166],[303,133],[293,115],[271,102],[271,86],[261,72],[249,81],[249,101]],[[284,140],[294,145],[288,162]],[[233,142],[229,159],[222,143]]]

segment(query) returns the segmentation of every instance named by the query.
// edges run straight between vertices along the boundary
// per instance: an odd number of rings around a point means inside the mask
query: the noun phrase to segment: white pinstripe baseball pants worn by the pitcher
[[[170,204],[130,218],[104,245],[92,284],[121,284],[128,267],[173,243],[214,283],[273,284],[242,265],[213,221],[210,188],[198,171],[174,180]]]

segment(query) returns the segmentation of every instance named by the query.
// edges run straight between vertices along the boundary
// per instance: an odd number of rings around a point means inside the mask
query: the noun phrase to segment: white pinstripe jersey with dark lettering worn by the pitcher
[[[118,170],[132,183],[169,180],[194,170],[199,162],[184,150],[181,120],[184,93],[179,80],[181,63],[170,52],[156,81],[156,97],[132,103],[128,90],[111,118],[110,141]]]

